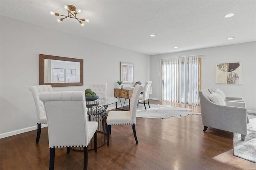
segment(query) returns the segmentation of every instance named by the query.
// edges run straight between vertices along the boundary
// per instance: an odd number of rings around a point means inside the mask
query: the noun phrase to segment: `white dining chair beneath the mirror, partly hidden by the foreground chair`
[[[37,117],[37,135],[36,143],[39,142],[42,124],[47,124],[43,102],[39,100],[38,95],[42,92],[53,91],[51,85],[34,85],[28,88],[33,95],[36,105],[36,117]]]

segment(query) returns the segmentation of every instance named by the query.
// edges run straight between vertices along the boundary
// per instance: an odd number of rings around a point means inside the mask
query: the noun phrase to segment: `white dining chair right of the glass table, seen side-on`
[[[132,125],[134,138],[135,138],[136,143],[138,144],[136,130],[135,130],[136,110],[137,110],[137,102],[139,99],[139,95],[140,95],[140,92],[142,92],[142,90],[143,90],[143,86],[141,86],[141,85],[136,85],[134,87],[129,111],[110,111],[110,112],[108,112],[108,117],[107,117],[108,145],[109,145],[112,125]]]

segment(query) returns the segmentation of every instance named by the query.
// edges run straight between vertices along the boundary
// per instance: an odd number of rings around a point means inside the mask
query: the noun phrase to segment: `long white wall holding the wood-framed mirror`
[[[89,83],[107,83],[107,95],[114,97],[120,61],[134,63],[135,81],[150,77],[148,55],[4,16],[0,29],[0,134],[36,128],[36,108],[28,87],[39,85],[39,54],[84,59],[84,85],[54,87],[54,91],[84,91]]]

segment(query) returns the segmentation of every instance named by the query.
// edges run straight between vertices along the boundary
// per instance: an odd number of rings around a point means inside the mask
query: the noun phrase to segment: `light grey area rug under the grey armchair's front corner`
[[[234,133],[234,156],[256,163],[256,118],[247,124],[247,135],[241,140],[241,134]]]

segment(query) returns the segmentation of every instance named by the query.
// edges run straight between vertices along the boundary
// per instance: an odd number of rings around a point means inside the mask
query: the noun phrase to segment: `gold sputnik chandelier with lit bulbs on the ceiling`
[[[77,19],[78,22],[84,26],[84,23],[82,21],[85,21],[85,22],[89,22],[88,19],[84,19],[84,18],[76,18],[76,15],[79,14],[81,12],[81,10],[76,10],[76,7],[73,6],[73,5],[65,5],[64,8],[68,11],[68,16],[65,16],[65,15],[60,15],[59,13],[55,13],[55,12],[50,12],[51,15],[55,15],[55,16],[64,16],[64,18],[60,18],[58,19],[57,21],[58,22],[62,22],[65,18],[74,18],[74,19]]]

